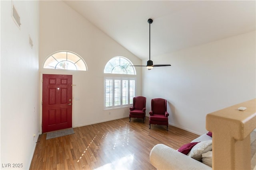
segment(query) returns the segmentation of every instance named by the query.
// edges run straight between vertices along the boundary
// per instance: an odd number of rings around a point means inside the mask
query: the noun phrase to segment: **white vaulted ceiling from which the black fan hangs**
[[[256,1],[67,0],[140,59],[256,30]]]

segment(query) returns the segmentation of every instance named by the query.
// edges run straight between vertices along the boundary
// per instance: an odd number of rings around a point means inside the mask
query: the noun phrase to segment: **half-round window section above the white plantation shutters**
[[[112,74],[136,74],[134,67],[130,66],[133,65],[125,57],[113,57],[108,61],[104,68],[104,73],[112,73]]]

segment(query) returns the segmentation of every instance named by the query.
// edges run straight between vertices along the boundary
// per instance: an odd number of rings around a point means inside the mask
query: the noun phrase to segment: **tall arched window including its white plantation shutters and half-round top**
[[[114,57],[106,64],[104,73],[108,77],[104,77],[104,109],[132,106],[136,94],[136,72],[130,65],[133,64],[125,57]]]

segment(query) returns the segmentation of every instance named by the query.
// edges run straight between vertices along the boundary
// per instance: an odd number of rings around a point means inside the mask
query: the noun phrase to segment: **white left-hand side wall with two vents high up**
[[[1,1],[1,168],[29,169],[39,135],[39,2]],[[21,17],[11,17],[12,3]],[[29,35],[33,49],[29,45]],[[33,135],[36,135],[33,137]],[[4,168],[5,166],[10,166]],[[22,164],[15,168],[13,164]]]

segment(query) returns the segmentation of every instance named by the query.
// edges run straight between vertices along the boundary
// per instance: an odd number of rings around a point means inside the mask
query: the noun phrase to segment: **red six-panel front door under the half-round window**
[[[42,133],[72,127],[72,75],[43,74]]]

